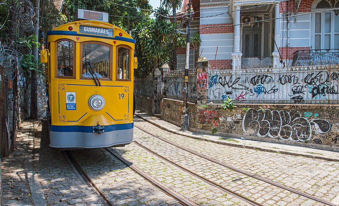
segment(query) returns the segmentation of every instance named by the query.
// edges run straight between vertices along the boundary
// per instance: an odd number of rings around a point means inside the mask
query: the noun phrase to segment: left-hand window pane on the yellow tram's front
[[[57,44],[57,76],[73,78],[73,42],[63,40]]]

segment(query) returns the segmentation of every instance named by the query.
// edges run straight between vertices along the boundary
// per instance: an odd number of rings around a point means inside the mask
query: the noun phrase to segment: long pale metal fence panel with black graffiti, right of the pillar
[[[339,65],[208,72],[207,102],[338,104]]]

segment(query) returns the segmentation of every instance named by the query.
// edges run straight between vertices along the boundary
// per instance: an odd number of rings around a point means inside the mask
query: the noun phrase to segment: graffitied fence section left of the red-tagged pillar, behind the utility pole
[[[184,70],[178,69],[169,71],[166,74],[166,97],[176,100],[183,100],[184,89]],[[197,102],[197,72],[195,69],[190,69],[188,72],[188,97],[187,101]]]

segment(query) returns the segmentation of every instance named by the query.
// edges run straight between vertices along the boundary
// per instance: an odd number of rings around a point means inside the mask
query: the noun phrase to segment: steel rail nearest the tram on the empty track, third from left
[[[191,175],[193,175],[193,176],[195,176],[195,177],[201,179],[202,181],[204,181],[204,182],[206,182],[206,183],[208,183],[208,184],[210,184],[210,185],[212,185],[212,186],[214,186],[214,187],[216,187],[216,188],[218,188],[218,189],[221,189],[221,190],[223,190],[223,191],[225,191],[225,192],[227,192],[227,193],[230,193],[230,194],[236,196],[237,198],[239,198],[239,199],[241,199],[241,200],[243,200],[243,201],[245,201],[245,202],[248,202],[248,203],[250,203],[250,204],[252,204],[252,205],[263,206],[263,205],[261,205],[261,204],[259,204],[259,203],[256,203],[256,202],[253,201],[253,200],[250,200],[250,199],[248,199],[248,198],[242,196],[241,194],[238,194],[238,193],[236,193],[236,192],[233,192],[232,190],[229,190],[229,189],[227,189],[227,188],[225,188],[225,187],[223,187],[223,186],[221,186],[221,185],[219,185],[219,184],[217,184],[217,183],[215,183],[215,182],[213,182],[213,181],[210,181],[209,179],[206,179],[205,177],[202,177],[202,176],[200,176],[200,175],[198,175],[198,174],[192,172],[191,170],[188,170],[188,169],[186,169],[186,168],[184,168],[184,167],[182,167],[182,166],[176,164],[175,162],[173,162],[173,161],[171,161],[171,160],[169,160],[169,159],[167,159],[167,158],[161,156],[160,154],[158,154],[158,153],[156,153],[156,152],[154,152],[154,151],[152,151],[152,150],[146,148],[144,145],[140,144],[140,143],[137,142],[137,141],[134,141],[134,143],[137,144],[139,147],[143,148],[144,150],[146,150],[146,151],[148,151],[148,152],[150,152],[150,153],[156,155],[157,157],[159,157],[159,158],[161,158],[161,159],[167,161],[169,164],[172,164],[172,165],[178,167],[179,169],[181,169],[181,170],[183,170],[183,171],[185,171],[185,172],[187,172],[187,173],[190,173]]]

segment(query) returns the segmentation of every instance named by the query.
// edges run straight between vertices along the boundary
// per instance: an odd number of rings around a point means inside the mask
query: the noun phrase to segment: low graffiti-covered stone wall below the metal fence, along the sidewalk
[[[189,130],[339,151],[339,106],[235,105],[230,111],[220,104],[189,104]],[[163,99],[162,119],[180,126],[181,107],[181,101]]]

